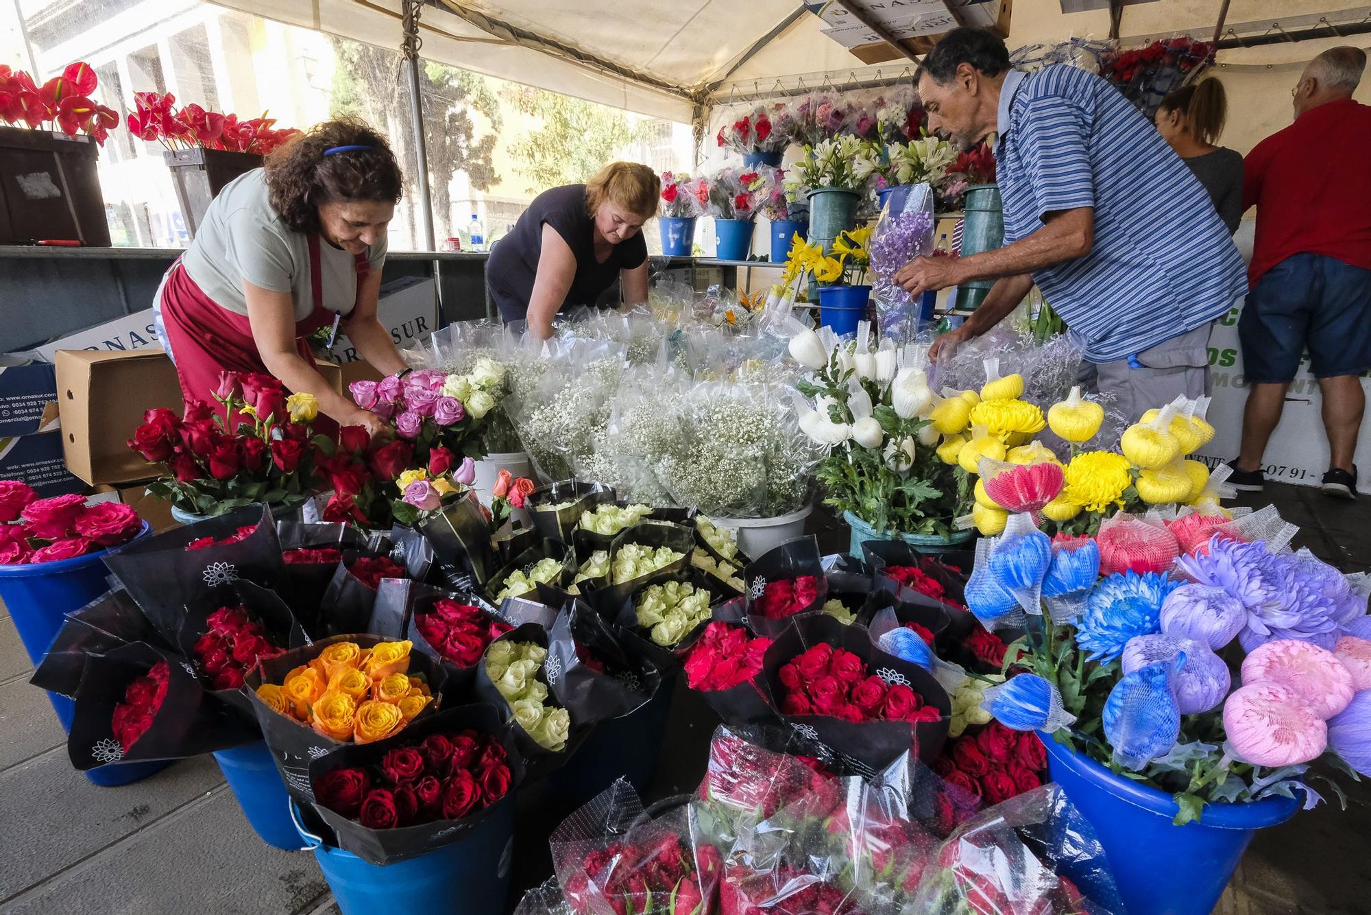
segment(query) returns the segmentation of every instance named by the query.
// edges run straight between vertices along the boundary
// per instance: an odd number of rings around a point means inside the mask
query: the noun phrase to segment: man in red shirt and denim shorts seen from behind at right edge
[[[1352,100],[1367,55],[1330,48],[1291,91],[1294,123],[1248,155],[1242,206],[1257,233],[1238,322],[1248,405],[1230,482],[1263,487],[1261,458],[1305,347],[1323,392],[1323,491],[1356,498],[1352,462],[1371,369],[1371,107]]]

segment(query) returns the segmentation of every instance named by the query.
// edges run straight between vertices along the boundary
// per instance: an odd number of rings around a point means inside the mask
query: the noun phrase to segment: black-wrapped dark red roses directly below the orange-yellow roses
[[[466,705],[337,749],[308,772],[313,812],[339,846],[385,866],[461,841],[488,816],[513,818],[524,763],[496,711]]]

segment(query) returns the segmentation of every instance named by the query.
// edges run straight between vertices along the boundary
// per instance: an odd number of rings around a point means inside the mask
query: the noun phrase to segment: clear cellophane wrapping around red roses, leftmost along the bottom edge
[[[718,849],[692,844],[684,805],[648,816],[624,779],[563,820],[550,845],[562,896],[579,915],[688,914],[714,896]]]

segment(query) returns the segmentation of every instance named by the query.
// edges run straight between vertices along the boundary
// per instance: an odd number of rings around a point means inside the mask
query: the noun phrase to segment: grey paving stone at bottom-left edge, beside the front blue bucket
[[[3,907],[10,915],[289,915],[315,911],[326,892],[313,855],[262,842],[219,787]]]

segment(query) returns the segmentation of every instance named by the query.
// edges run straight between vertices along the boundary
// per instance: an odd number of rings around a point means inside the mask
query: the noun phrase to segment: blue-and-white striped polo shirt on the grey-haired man
[[[1032,274],[1091,362],[1193,331],[1246,292],[1242,255],[1204,187],[1095,74],[1010,70],[998,128],[1006,243],[1041,229],[1043,214],[1094,207],[1090,254]]]

